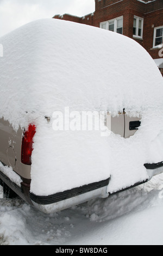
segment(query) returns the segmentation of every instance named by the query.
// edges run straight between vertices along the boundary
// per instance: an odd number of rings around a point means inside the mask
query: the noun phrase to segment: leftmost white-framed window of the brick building
[[[123,33],[123,16],[100,23],[100,27],[119,34]]]

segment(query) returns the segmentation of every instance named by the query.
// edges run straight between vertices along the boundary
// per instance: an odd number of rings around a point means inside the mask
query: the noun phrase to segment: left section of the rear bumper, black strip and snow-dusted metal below
[[[73,188],[50,196],[36,196],[30,193],[30,200],[34,206],[46,214],[70,208],[73,205],[82,204],[93,198],[106,198],[109,179],[95,182],[82,187]]]

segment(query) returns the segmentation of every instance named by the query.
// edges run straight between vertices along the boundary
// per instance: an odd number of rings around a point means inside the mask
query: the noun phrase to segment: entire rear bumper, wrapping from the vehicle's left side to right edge
[[[141,182],[137,182],[136,184],[131,185],[129,187],[123,188],[123,190],[127,190],[128,188],[138,186],[142,183],[151,180],[153,176],[163,173],[163,162],[144,164],[144,166],[147,169],[147,179]],[[112,194],[108,192],[110,178],[92,184],[84,185],[81,187],[73,188],[72,190],[55,193],[50,196],[36,196],[35,194],[31,193],[30,181],[27,182],[27,180],[24,180],[20,184],[21,186],[18,187],[4,173],[2,173],[1,170],[0,179],[4,181],[5,184],[7,184],[27,203],[33,204],[37,209],[47,214],[70,208],[73,205],[78,205],[87,202],[93,198],[106,198],[110,194]],[[118,192],[120,192],[120,190],[114,193]]]

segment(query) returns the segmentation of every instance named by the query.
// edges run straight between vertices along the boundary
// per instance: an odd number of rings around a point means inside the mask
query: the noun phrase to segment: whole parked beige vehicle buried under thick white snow
[[[43,19],[0,43],[6,196],[49,213],[163,172],[162,76],[137,42]]]

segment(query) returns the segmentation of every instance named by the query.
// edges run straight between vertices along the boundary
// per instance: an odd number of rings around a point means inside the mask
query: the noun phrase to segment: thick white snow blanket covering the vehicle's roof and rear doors
[[[111,176],[108,192],[147,179],[144,163],[163,160],[163,86],[154,60],[126,36],[43,19],[0,38],[0,116],[36,125],[31,192],[53,194]],[[135,136],[54,131],[54,111],[142,115]],[[46,116],[51,117],[47,123]]]

